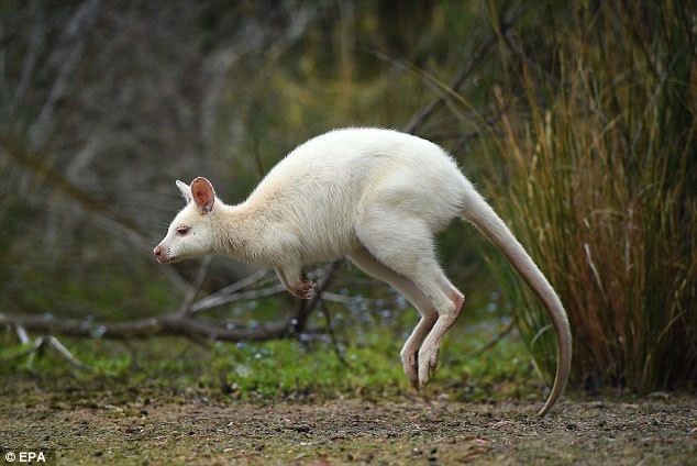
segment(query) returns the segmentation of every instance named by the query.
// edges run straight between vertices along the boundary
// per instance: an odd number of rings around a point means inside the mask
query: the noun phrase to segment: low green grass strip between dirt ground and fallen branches
[[[531,381],[531,364],[516,334],[472,355],[498,330],[499,325],[488,322],[474,330],[462,326],[451,332],[429,396],[446,395],[458,400],[541,396],[541,387]],[[26,357],[2,364],[2,385],[3,390],[19,391],[198,393],[259,402],[414,395],[399,360],[403,339],[395,336],[394,326],[368,332],[354,329],[350,333],[353,335],[340,335],[339,347],[322,335],[237,344],[179,337],[129,343],[62,339],[77,358],[96,370],[73,368],[54,352],[45,351],[33,358],[31,368]],[[26,348],[18,345],[9,332],[0,335],[0,359]]]

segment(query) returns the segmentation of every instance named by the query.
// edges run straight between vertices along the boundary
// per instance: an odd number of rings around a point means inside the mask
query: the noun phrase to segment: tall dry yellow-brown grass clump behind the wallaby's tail
[[[697,18],[678,3],[578,7],[546,63],[500,38],[489,192],[565,303],[586,387],[697,381]],[[496,265],[552,371],[544,313]]]

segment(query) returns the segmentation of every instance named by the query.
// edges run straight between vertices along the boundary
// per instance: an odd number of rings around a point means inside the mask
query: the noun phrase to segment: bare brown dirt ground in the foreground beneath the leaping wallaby
[[[688,396],[566,399],[539,420],[521,402],[64,395],[0,397],[0,465],[23,451],[60,465],[697,465]]]

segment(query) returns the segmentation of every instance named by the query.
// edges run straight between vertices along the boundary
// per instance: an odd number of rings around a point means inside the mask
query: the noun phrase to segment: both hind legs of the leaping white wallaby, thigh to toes
[[[395,222],[378,215],[367,219],[358,235],[366,253],[363,259],[369,257],[373,274],[376,269],[383,271],[379,278],[398,290],[399,286],[408,288],[409,292],[402,293],[422,314],[402,348],[401,358],[412,384],[417,371],[416,380],[423,387],[435,371],[441,341],[457,320],[464,296],[439,266],[431,232],[423,221],[400,217]],[[385,276],[385,270],[389,276]]]

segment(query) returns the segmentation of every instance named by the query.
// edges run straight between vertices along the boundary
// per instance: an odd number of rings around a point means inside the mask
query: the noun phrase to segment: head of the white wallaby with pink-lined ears
[[[212,252],[213,224],[220,200],[206,178],[196,178],[191,186],[177,180],[187,206],[175,217],[167,235],[153,254],[162,264],[198,257]]]

